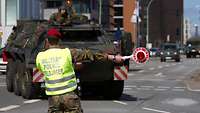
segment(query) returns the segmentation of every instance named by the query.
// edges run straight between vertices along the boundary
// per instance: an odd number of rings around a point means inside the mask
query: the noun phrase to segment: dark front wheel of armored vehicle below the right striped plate
[[[105,99],[119,99],[123,93],[124,81],[107,81],[104,86],[103,97]]]

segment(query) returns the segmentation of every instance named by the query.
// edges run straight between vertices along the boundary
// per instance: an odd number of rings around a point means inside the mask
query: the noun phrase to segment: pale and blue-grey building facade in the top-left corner
[[[18,19],[41,19],[42,0],[0,0],[1,47]]]

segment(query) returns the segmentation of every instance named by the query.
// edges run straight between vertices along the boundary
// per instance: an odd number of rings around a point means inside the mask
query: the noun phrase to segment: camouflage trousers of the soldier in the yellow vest
[[[74,92],[50,96],[48,101],[48,113],[83,113],[80,98]]]

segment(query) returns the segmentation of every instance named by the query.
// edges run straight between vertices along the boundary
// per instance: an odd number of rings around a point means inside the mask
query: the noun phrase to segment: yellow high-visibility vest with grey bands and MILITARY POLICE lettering
[[[47,95],[72,92],[77,81],[70,50],[52,48],[40,52],[36,58],[37,68],[44,74]]]

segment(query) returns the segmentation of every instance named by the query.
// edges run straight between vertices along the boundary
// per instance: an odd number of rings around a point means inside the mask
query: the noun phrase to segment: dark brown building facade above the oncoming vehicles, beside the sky
[[[141,33],[153,47],[167,41],[183,44],[183,0],[140,0]]]

